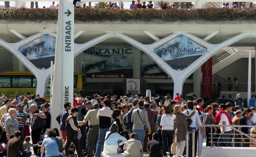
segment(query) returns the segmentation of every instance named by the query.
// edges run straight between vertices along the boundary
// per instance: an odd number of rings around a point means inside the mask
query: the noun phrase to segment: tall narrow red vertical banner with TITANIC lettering
[[[202,97],[209,95],[213,98],[213,58],[211,57],[202,66]]]

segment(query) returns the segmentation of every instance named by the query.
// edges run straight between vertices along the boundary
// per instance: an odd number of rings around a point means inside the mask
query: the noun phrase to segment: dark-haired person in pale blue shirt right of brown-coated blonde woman
[[[194,103],[192,101],[188,101],[187,102],[187,108],[188,110],[185,110],[183,112],[183,114],[185,115],[189,115],[190,113],[192,113],[193,108],[194,108]],[[199,113],[196,110],[195,114],[190,118],[192,120],[192,124],[190,126],[188,126],[188,132],[189,132],[189,136],[190,136],[190,140],[188,142],[189,147],[188,147],[188,157],[192,157],[192,130],[196,130],[196,127],[201,126],[201,121],[199,118]],[[195,135],[198,135],[198,132],[196,131]],[[197,138],[195,138],[197,139]],[[195,140],[195,146],[197,145],[197,140]],[[195,156],[197,154],[197,148],[195,148]]]

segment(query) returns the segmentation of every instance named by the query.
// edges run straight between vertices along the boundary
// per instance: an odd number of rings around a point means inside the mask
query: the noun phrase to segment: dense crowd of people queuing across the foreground
[[[203,139],[206,139],[206,146],[233,146],[234,143],[237,147],[249,147],[245,135],[236,133],[236,138],[231,137],[231,127],[201,125],[255,125],[255,106],[245,108],[240,94],[234,108],[229,102],[204,106],[204,101],[196,95],[185,101],[179,93],[173,99],[163,95],[149,98],[132,94],[117,97],[75,93],[73,106],[66,102],[65,109],[56,117],[59,133],[56,128],[50,129],[50,104],[40,95],[21,93],[9,100],[2,93],[0,156],[30,157],[30,147],[35,155],[42,157],[70,156],[75,151],[78,157],[106,157],[118,153],[126,157],[142,157],[143,154],[167,157],[168,153],[179,156],[185,155],[187,132],[190,137],[188,157],[201,152]],[[238,130],[252,134],[256,128],[241,126]]]

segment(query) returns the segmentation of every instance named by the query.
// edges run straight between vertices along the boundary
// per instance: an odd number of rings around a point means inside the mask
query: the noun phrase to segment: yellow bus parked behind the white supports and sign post
[[[35,95],[37,91],[37,78],[30,72],[0,73],[0,94],[5,93],[9,99],[21,93]],[[85,93],[85,75],[74,73],[74,93]],[[41,95],[40,95],[41,96]],[[46,89],[46,100],[50,100],[50,79]]]

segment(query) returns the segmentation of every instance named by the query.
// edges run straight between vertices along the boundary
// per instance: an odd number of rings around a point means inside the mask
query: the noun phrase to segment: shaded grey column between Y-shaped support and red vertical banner
[[[201,97],[201,67],[193,73],[194,94]]]

